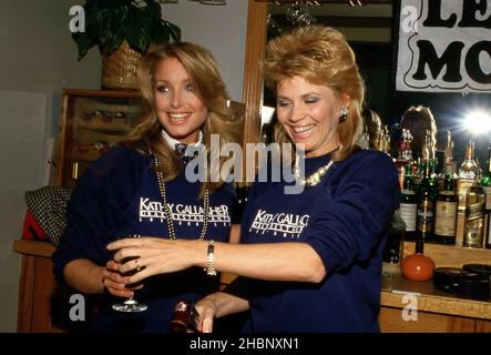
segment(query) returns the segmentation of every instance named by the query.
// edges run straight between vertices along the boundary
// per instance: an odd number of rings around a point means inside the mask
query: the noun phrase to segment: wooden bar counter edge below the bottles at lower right
[[[454,295],[433,287],[432,282],[413,282],[402,276],[382,277],[381,306],[403,308],[405,294],[418,297],[418,311],[457,315],[461,317],[491,320],[491,300],[489,302],[457,298]]]

